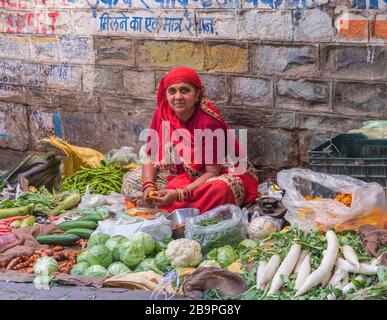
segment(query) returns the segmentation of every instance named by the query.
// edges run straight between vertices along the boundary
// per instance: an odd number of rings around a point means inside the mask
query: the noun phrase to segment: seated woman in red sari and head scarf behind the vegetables
[[[220,205],[241,206],[255,200],[258,179],[252,166],[249,166],[245,173],[232,174],[224,164],[225,155],[221,152],[223,159],[217,158],[216,139],[212,138],[215,143],[211,145],[203,138],[194,138],[194,130],[209,129],[214,132],[219,129],[226,133],[229,129],[219,111],[205,99],[203,92],[198,74],[190,68],[175,68],[160,81],[157,110],[151,124],[151,129],[158,134],[158,146],[151,144],[148,137],[146,149],[148,156],[151,155],[152,148],[158,148],[158,154],[153,162],[144,163],[142,169],[145,203],[153,203],[169,212],[179,208],[197,208],[203,213]],[[169,122],[170,132],[167,132],[163,125],[166,121]],[[164,135],[169,138],[167,143],[162,139],[163,130]],[[185,157],[182,160],[182,148],[176,151],[181,140],[173,135],[176,130],[182,131],[183,140],[186,138],[185,141],[189,142],[183,144],[183,148],[189,148],[188,159]],[[236,154],[240,155],[241,148],[237,140],[232,139]],[[198,147],[201,148],[199,149],[203,159],[196,163],[194,152],[197,152]],[[163,148],[169,150],[169,158],[165,156],[168,150],[163,153]],[[213,161],[205,163],[205,155],[208,153],[212,153]],[[176,157],[176,154],[179,155],[181,163],[171,163],[170,160]],[[157,196],[151,196],[153,193],[150,191],[156,189],[155,182],[160,168],[169,169],[168,182],[164,190],[157,192]]]

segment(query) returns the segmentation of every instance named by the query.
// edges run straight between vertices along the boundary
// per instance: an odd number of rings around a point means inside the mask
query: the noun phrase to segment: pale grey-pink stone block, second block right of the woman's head
[[[262,78],[232,77],[231,102],[237,105],[273,107],[272,82]]]

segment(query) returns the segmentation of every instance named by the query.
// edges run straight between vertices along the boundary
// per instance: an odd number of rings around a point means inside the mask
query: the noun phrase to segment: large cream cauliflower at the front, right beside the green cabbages
[[[165,255],[172,267],[196,267],[202,262],[200,244],[185,238],[168,243]]]

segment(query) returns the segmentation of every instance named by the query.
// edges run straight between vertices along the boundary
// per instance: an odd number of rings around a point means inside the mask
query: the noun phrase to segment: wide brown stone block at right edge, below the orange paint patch
[[[327,76],[370,80],[386,78],[384,47],[329,45],[321,52],[321,68]]]

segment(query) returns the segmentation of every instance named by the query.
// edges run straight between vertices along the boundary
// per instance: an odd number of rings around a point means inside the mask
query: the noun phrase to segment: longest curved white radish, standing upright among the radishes
[[[328,243],[327,250],[324,254],[320,266],[315,271],[313,271],[308,276],[308,278],[306,278],[301,288],[297,291],[295,295],[296,297],[303,295],[305,292],[317,286],[332,271],[336,262],[337,254],[339,253],[339,241],[337,239],[336,233],[332,230],[327,231],[326,238]]]

